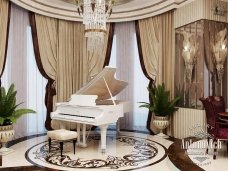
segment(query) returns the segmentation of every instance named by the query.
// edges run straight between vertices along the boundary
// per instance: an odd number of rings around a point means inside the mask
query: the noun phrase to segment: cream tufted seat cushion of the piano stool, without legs
[[[56,140],[60,140],[60,141],[71,140],[71,139],[77,138],[77,132],[66,130],[66,129],[48,131],[47,135],[51,139],[56,139]]]

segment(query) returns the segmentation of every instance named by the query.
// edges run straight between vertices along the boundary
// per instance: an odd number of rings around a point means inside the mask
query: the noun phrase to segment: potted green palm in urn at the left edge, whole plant
[[[16,104],[17,91],[14,90],[14,84],[11,84],[8,91],[4,87],[0,88],[0,142],[2,148],[0,155],[10,153],[12,150],[5,147],[5,144],[14,136],[13,123],[27,113],[35,113],[31,109],[17,109],[21,104]]]

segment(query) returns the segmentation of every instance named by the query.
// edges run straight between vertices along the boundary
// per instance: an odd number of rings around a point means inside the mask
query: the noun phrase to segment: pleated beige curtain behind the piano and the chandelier
[[[108,35],[102,54],[86,50],[84,25],[35,15],[40,59],[43,69],[56,81],[57,101],[66,101],[104,65]],[[109,30],[109,24],[107,24]]]

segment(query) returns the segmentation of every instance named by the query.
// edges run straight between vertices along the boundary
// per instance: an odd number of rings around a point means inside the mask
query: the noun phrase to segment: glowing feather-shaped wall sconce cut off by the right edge
[[[226,28],[219,31],[215,36],[215,44],[212,44],[213,62],[216,66],[218,82],[221,83],[224,74],[224,62],[227,57]]]

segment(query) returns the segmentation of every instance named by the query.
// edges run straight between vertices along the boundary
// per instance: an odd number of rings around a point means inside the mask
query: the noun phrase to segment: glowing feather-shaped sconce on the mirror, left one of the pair
[[[196,52],[198,50],[198,43],[196,44],[196,36],[183,31],[183,50],[182,56],[185,63],[185,79],[192,82],[192,71],[196,64]]]

